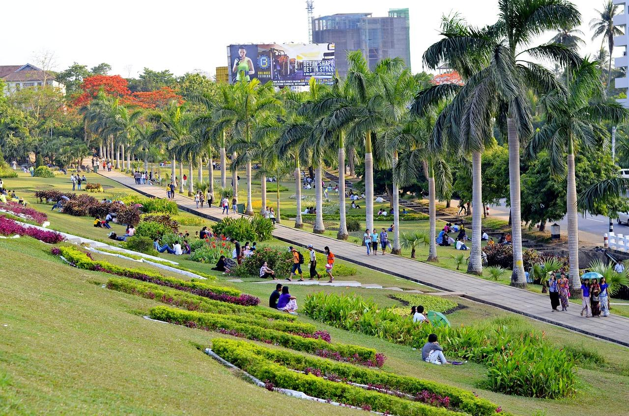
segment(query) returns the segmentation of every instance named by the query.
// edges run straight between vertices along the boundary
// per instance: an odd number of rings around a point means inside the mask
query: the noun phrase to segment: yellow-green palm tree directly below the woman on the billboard
[[[221,103],[214,114],[218,123],[228,123],[234,138],[228,149],[232,154],[238,153],[237,158],[231,160],[232,172],[245,163],[247,172],[247,209],[245,214],[253,215],[251,201],[251,162],[250,150],[256,143],[253,141],[253,128],[265,118],[269,112],[279,111],[280,102],[274,96],[273,85],[269,82],[260,85],[260,81],[239,82],[233,89],[231,100]],[[237,183],[237,178],[234,184]]]

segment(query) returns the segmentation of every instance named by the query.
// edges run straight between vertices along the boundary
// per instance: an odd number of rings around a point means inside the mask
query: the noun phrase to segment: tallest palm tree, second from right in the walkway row
[[[459,109],[467,106],[468,111],[456,111],[454,117],[449,112],[442,114],[436,136],[440,136],[446,123],[455,128],[467,125],[470,138],[478,145],[484,134],[493,131],[493,119],[487,123],[487,114],[495,114],[501,134],[508,138],[513,238],[511,285],[526,287],[520,214],[520,138],[526,139],[533,133],[526,92],[528,89],[549,92],[557,87],[557,80],[550,70],[525,58],[577,65],[579,57],[564,45],[545,43],[530,47],[529,44],[545,31],[579,25],[581,14],[565,0],[500,1],[498,8],[498,22],[481,29],[453,19],[452,25],[442,30],[444,38],[431,45],[423,59],[433,69],[446,62],[466,79],[455,102]],[[476,145],[470,149],[478,151]]]

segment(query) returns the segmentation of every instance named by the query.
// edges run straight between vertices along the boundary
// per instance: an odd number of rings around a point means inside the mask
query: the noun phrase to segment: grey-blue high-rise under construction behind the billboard
[[[389,9],[389,16],[338,13],[313,18],[313,42],[335,44],[338,74],[347,75],[347,52],[360,50],[369,67],[382,58],[400,57],[411,67],[408,9]]]

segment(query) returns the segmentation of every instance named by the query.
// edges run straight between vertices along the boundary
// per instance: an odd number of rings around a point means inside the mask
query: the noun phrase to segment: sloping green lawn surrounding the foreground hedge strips
[[[353,410],[330,408],[271,393],[243,381],[205,356],[218,334],[160,324],[138,314],[157,303],[101,288],[110,275],[78,270],[48,255],[49,246],[30,238],[0,240],[0,414],[226,414],[276,415],[278,408],[318,415]],[[116,260],[116,264],[136,263]],[[19,266],[15,266],[19,265]],[[221,275],[222,276],[222,275]],[[262,298],[272,285],[240,283],[238,288]],[[316,287],[292,287],[301,301]],[[382,290],[326,288],[357,293],[382,305],[394,305]],[[513,316],[492,307],[455,298],[467,308],[448,315],[453,325]],[[28,307],[26,307],[28,305]],[[140,312],[142,311],[142,312]],[[484,390],[486,369],[478,364],[432,366],[418,351],[374,337],[328,327],[299,316],[330,332],[335,341],[370,346],[388,357],[384,369],[460,386],[492,400],[517,415],[623,415],[629,383],[627,349],[557,327],[520,318],[558,346],[596,351],[607,362],[579,368],[579,391],[562,400],[510,397]],[[545,413],[536,413],[544,410]]]

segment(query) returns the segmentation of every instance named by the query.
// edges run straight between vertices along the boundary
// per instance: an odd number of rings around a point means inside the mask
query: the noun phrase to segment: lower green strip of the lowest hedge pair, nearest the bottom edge
[[[218,342],[216,342],[218,341]],[[272,385],[303,391],[307,395],[334,400],[345,405],[374,410],[385,414],[411,416],[460,416],[442,407],[433,407],[420,402],[394,397],[386,393],[365,390],[357,386],[337,381],[325,380],[311,374],[301,374],[265,359],[252,351],[242,348],[228,348],[226,343],[216,339],[212,344],[214,353],[241,368],[260,380],[268,380]],[[496,411],[494,410],[494,413]]]

